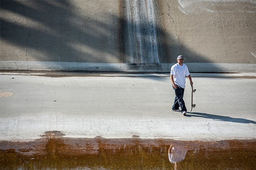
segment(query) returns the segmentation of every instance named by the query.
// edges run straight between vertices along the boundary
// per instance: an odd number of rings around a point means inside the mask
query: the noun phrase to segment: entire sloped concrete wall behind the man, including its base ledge
[[[1,0],[0,5],[2,70],[169,72],[180,54],[191,72],[256,70],[253,0]]]

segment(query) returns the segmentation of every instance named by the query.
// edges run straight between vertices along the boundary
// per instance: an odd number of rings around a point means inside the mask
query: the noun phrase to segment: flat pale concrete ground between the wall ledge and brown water
[[[46,131],[74,138],[256,138],[256,73],[191,74],[192,112],[171,111],[169,74],[0,74],[0,140]],[[184,100],[191,109],[187,79]]]

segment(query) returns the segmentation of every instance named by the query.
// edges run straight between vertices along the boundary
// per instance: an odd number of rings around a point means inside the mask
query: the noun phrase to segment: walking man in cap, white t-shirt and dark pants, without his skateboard
[[[175,91],[175,98],[174,104],[172,107],[172,111],[180,111],[179,107],[181,108],[181,113],[185,115],[187,113],[187,108],[185,106],[185,102],[183,100],[184,96],[184,89],[185,89],[185,76],[189,78],[190,84],[193,85],[191,75],[188,71],[188,67],[183,64],[184,57],[179,55],[177,57],[177,62],[171,68],[171,81],[172,86]]]

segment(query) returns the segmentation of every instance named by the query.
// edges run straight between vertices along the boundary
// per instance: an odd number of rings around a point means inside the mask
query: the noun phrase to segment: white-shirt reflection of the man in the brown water
[[[168,157],[171,163],[174,163],[174,170],[177,170],[177,162],[181,162],[185,159],[187,149],[182,146],[170,146],[168,150]]]

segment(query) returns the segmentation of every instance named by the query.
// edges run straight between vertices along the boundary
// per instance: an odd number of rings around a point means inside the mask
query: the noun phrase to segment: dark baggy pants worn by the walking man
[[[181,112],[187,112],[187,108],[185,106],[185,102],[183,100],[184,89],[178,86],[177,89],[173,88],[175,91],[174,104],[172,109],[177,110],[179,107],[181,108]]]

